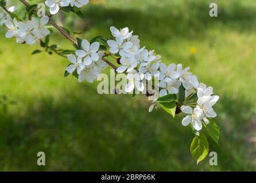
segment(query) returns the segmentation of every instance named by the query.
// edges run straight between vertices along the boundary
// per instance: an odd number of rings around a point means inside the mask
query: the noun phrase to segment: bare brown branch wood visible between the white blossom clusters
[[[20,0],[22,3],[24,3],[25,6],[30,6],[30,4],[28,2],[26,2],[25,0]],[[36,9],[34,9],[34,11],[37,12]],[[49,22],[53,25],[53,27],[55,27],[62,35],[64,35],[65,38],[67,38],[69,41],[71,41],[73,44],[77,45],[77,41],[75,39],[73,39],[70,35],[68,35],[59,25],[57,25],[52,19],[51,16],[49,17]],[[113,69],[117,69],[117,66],[115,66],[113,63],[111,63],[110,61],[107,61],[106,59],[102,59],[104,62],[106,62],[108,65],[110,65],[111,67],[113,67]]]

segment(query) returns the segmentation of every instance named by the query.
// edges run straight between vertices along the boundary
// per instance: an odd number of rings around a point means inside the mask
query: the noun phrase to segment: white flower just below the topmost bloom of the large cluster
[[[124,39],[121,37],[116,38],[116,41],[114,40],[108,40],[107,41],[108,46],[110,46],[110,52],[111,53],[118,53],[119,51],[127,50],[133,46],[132,42],[124,42]]]

